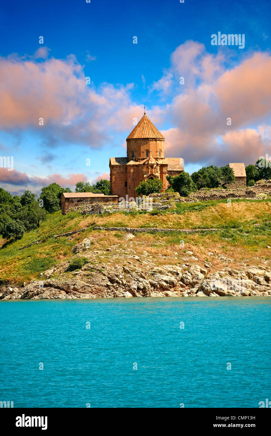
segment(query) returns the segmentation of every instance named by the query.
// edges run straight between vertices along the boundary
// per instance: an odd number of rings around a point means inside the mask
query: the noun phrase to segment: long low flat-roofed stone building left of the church
[[[61,198],[62,215],[67,214],[67,209],[75,206],[84,206],[93,203],[117,203],[117,195],[94,194],[93,192],[64,192]]]

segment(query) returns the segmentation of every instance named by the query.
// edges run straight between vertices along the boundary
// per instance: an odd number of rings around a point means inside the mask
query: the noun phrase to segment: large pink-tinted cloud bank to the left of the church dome
[[[130,101],[133,84],[103,83],[96,89],[86,85],[74,55],[47,55],[47,48],[39,48],[32,58],[0,58],[0,129],[32,128],[51,141],[98,147],[132,123],[139,113]]]

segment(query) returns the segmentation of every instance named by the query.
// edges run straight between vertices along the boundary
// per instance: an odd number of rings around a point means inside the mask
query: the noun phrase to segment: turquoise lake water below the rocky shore
[[[268,297],[1,301],[0,400],[259,407],[271,399],[270,319]]]

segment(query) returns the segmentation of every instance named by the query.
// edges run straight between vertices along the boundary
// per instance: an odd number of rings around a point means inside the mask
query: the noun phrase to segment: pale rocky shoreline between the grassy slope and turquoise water
[[[134,255],[133,260],[137,257]],[[65,272],[67,267],[68,262],[63,262],[21,288],[2,286],[0,300],[271,296],[271,269],[267,267],[226,267],[214,272],[211,262],[152,268],[138,268],[133,262],[114,267],[86,264],[71,277]]]

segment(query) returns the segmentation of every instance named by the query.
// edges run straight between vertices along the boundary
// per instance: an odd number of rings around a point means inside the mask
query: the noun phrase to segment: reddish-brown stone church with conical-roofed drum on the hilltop
[[[134,130],[127,136],[127,157],[110,158],[111,195],[136,198],[135,188],[141,181],[161,179],[167,189],[167,175],[184,171],[182,158],[164,157],[164,136],[144,112]]]

